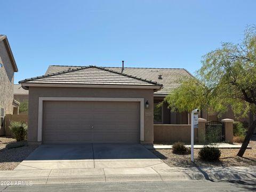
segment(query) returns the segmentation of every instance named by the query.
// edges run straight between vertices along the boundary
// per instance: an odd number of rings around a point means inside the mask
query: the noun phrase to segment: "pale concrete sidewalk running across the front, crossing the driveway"
[[[253,167],[166,167],[94,168],[0,171],[0,181],[31,181],[34,184],[172,181],[172,180],[255,180]]]

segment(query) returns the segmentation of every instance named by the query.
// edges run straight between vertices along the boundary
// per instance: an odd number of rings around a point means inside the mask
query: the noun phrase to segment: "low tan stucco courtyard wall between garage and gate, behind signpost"
[[[198,129],[194,129],[194,141],[198,141]],[[190,142],[191,126],[190,125],[154,125],[155,142]]]

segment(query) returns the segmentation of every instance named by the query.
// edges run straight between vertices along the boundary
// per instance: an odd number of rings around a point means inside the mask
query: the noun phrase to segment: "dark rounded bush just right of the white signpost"
[[[220,158],[221,151],[214,146],[204,146],[198,152],[199,158],[205,161],[217,161]]]

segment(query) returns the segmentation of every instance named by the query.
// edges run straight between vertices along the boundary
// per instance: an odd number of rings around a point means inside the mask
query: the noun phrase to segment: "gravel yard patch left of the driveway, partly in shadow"
[[[0,170],[13,170],[33,150],[37,148],[36,145],[11,149],[6,148],[7,144],[15,142],[16,140],[13,138],[0,137]]]

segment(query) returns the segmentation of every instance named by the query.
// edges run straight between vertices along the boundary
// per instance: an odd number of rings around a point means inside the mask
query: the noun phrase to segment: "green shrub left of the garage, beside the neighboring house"
[[[17,141],[23,141],[27,139],[28,125],[26,123],[11,121],[11,124],[9,127],[13,137]]]

